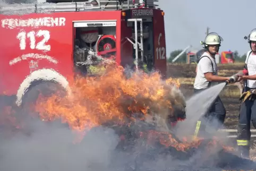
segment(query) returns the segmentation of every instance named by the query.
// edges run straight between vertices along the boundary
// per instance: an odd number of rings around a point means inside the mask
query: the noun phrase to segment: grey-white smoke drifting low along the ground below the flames
[[[74,143],[80,138],[80,134],[59,121],[42,122],[39,119],[30,119],[29,114],[22,120],[25,122],[23,129],[12,132],[11,136],[6,137],[7,128],[1,129],[0,170],[219,170],[221,165],[233,164],[233,160],[241,163],[234,155],[219,154],[220,147],[210,150],[199,148],[197,152],[191,148],[191,151],[182,152],[172,150],[175,149],[173,147],[158,147],[140,138],[123,142],[120,132],[131,134],[151,129],[140,122],[130,126],[130,133],[122,129],[118,133],[113,126],[93,127],[83,136],[81,142]],[[206,147],[207,143],[202,143],[202,147]],[[252,163],[246,165],[249,167]]]

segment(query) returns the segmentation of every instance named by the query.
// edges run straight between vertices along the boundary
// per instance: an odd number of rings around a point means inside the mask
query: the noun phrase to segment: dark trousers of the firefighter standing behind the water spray
[[[205,89],[194,89],[194,93],[199,93]],[[212,102],[211,106],[207,110],[206,114],[204,114],[200,121],[200,126],[197,125],[198,133],[197,136],[207,136],[207,133],[204,132],[206,126],[210,126],[211,129],[218,130],[220,127],[223,126],[226,117],[226,109],[221,101],[220,97],[217,98]]]

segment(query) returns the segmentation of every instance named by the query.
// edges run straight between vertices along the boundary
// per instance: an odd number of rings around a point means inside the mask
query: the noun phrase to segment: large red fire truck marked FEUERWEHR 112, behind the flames
[[[88,54],[122,66],[146,60],[166,75],[164,12],[156,0],[56,1],[0,8],[0,95],[22,106],[44,82],[69,92],[76,69],[84,72],[76,62],[86,63]],[[86,53],[75,57],[77,49]]]

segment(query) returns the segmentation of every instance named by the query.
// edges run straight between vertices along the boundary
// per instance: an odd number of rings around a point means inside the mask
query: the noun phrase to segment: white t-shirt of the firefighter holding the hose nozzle
[[[208,56],[208,57],[202,57]],[[197,65],[197,76],[195,76],[194,89],[205,89],[208,87],[209,81],[207,81],[204,73],[212,72],[214,75],[218,75],[218,67],[214,58],[212,58],[207,52],[204,52]],[[212,65],[214,66],[212,68]],[[211,86],[218,84],[218,82],[211,82]]]

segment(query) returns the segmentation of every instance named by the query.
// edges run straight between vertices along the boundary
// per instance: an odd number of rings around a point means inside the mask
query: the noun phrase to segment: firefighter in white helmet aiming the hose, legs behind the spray
[[[216,85],[218,82],[229,81],[228,77],[218,76],[217,63],[215,61],[215,55],[219,51],[221,41],[223,41],[223,39],[217,33],[209,33],[204,42],[201,41],[206,52],[204,52],[198,60],[197,75],[195,76],[194,81],[194,93],[206,90],[207,88]],[[209,107],[208,112],[197,122],[194,137],[204,137],[204,135],[206,135],[206,125],[217,130],[223,125],[225,117],[226,110],[223,102],[218,96]]]

